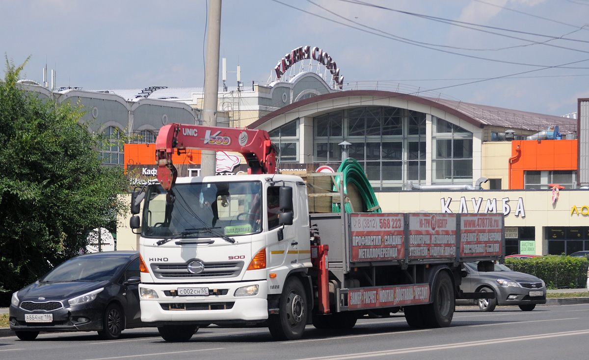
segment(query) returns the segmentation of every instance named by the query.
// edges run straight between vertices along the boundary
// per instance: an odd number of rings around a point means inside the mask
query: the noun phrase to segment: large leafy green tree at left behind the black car
[[[125,211],[123,169],[101,165],[101,139],[81,123],[81,106],[25,92],[25,64],[6,59],[0,81],[0,306]]]

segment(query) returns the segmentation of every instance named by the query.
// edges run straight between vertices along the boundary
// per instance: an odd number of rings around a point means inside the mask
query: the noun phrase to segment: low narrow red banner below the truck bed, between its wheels
[[[348,309],[428,304],[429,285],[359,288],[348,291]]]

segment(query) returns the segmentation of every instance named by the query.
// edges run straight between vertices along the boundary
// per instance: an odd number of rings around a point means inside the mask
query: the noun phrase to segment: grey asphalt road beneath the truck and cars
[[[187,343],[167,343],[157,329],[129,329],[117,341],[92,333],[41,334],[32,342],[0,338],[0,359],[515,359],[587,358],[589,304],[499,307],[491,313],[458,307],[450,328],[410,329],[402,314],[360,319],[351,331],[307,326],[298,341],[276,342],[266,328],[200,329]]]

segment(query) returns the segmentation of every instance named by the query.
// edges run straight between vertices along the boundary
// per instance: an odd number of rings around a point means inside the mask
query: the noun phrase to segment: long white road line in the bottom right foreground
[[[589,334],[589,329],[577,330],[577,331],[555,332],[555,333],[550,333],[550,334],[515,336],[512,338],[497,338],[497,339],[488,339],[488,340],[481,340],[481,341],[456,342],[455,344],[418,346],[415,348],[391,349],[391,350],[371,351],[371,352],[358,352],[356,354],[340,354],[340,355],[319,356],[316,358],[301,358],[301,359],[296,359],[296,360],[330,360],[330,359],[343,360],[343,359],[357,359],[357,358],[372,358],[374,356],[409,354],[409,353],[413,353],[413,352],[425,352],[425,351],[434,351],[434,350],[466,348],[469,346],[497,345],[498,343],[503,343],[503,342],[528,341],[528,340],[537,340],[537,339],[546,339],[546,338],[556,338],[556,337],[560,337],[560,336],[574,336],[574,335],[585,335],[585,334]]]

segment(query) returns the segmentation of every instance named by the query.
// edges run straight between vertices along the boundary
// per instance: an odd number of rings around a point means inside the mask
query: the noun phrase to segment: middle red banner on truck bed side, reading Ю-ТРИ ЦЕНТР
[[[409,214],[409,259],[454,258],[456,215]]]

